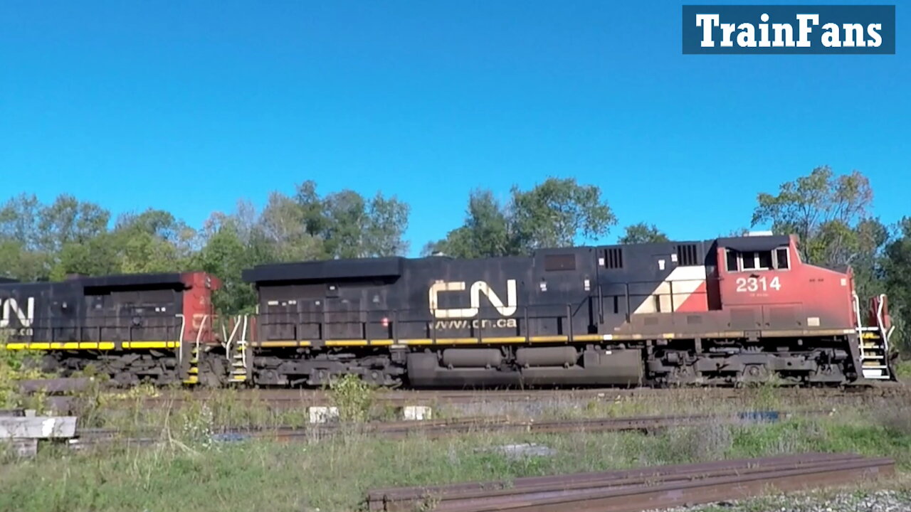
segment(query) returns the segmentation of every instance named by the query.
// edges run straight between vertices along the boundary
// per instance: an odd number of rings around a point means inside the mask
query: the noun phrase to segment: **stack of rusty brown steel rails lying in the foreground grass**
[[[770,490],[844,486],[891,476],[895,461],[855,454],[804,454],[656,466],[451,486],[374,489],[371,512],[639,512],[742,499]]]

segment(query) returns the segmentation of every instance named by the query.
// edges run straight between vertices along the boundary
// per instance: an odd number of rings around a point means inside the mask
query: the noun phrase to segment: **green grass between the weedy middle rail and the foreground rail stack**
[[[268,504],[277,511],[350,511],[377,486],[508,480],[802,451],[895,456],[900,468],[911,468],[911,433],[852,415],[681,427],[652,435],[487,433],[392,440],[349,434],[295,444],[215,443],[200,435],[208,418],[187,416],[188,429],[174,419],[170,440],[154,447],[108,446],[77,454],[45,450],[35,462],[2,466],[0,510],[230,512]],[[495,449],[515,443],[547,445],[555,453],[509,456]]]

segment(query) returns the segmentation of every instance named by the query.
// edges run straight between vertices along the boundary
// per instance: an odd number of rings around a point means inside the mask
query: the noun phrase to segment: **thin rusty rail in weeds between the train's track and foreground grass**
[[[748,424],[778,421],[794,415],[830,415],[831,410],[799,412],[746,412],[731,415],[663,415],[623,418],[573,419],[559,421],[515,420],[506,417],[478,417],[425,421],[371,422],[363,424],[327,423],[306,427],[276,426],[264,428],[225,429],[213,435],[216,440],[271,439],[284,442],[312,441],[343,434],[380,435],[384,439],[405,439],[409,436],[443,437],[470,433],[497,434],[565,434],[641,431],[652,432],[667,428],[709,424]],[[77,445],[104,443],[148,444],[164,438],[155,431],[122,435],[116,429],[84,428],[77,431]]]

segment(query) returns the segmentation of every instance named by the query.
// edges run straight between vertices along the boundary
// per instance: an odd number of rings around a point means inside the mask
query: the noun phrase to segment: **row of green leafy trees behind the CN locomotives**
[[[745,224],[795,233],[804,261],[830,268],[850,265],[858,294],[888,293],[896,340],[911,349],[911,218],[886,225],[872,212],[869,179],[828,167],[760,192]],[[321,194],[313,181],[294,193],[272,192],[261,210],[239,201],[199,228],[169,211],[149,209],[112,219],[96,203],[61,195],[42,203],[21,194],[0,207],[0,275],[20,281],[63,280],[69,274],[200,270],[217,275],[222,312],[250,312],[255,304],[241,271],[280,261],[404,255],[409,206],[394,196],[345,189]],[[460,258],[528,254],[602,240],[618,220],[595,185],[550,178],[530,189],[514,187],[507,201],[476,189],[462,224],[425,243],[422,255]],[[732,233],[742,234],[747,229]],[[706,233],[711,239],[722,233]],[[619,243],[668,241],[653,224],[627,225]]]

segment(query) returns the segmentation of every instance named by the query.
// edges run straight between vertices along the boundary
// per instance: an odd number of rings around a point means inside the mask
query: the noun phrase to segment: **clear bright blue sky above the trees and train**
[[[476,187],[576,177],[619,217],[608,240],[643,220],[700,239],[828,164],[869,176],[894,221],[911,214],[904,7],[895,56],[683,56],[679,2],[5,0],[0,199],[199,226],[314,179],[410,203],[416,252]]]

